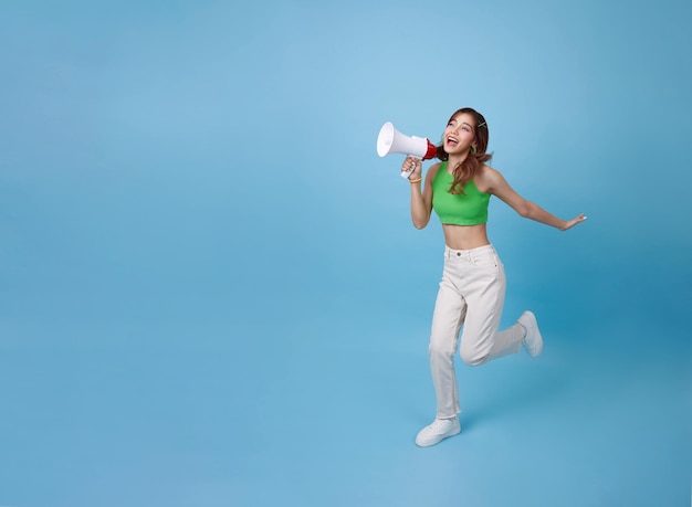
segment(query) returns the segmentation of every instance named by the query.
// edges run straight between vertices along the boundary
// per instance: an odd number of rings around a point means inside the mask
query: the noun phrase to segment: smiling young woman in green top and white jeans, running
[[[442,160],[428,170],[423,190],[421,161],[407,157],[402,171],[412,170],[411,218],[417,229],[430,221],[432,210],[444,232],[444,270],[432,316],[430,369],[437,395],[437,416],[416,437],[421,447],[461,431],[454,355],[461,336],[460,356],[478,366],[520,351],[530,356],[543,349],[536,317],[524,311],[517,323],[499,330],[505,293],[504,266],[487,240],[487,204],[496,196],[520,215],[566,231],[586,220],[579,214],[560,220],[522,198],[495,169],[486,166],[487,124],[472,108],[455,112],[450,118],[437,157]]]

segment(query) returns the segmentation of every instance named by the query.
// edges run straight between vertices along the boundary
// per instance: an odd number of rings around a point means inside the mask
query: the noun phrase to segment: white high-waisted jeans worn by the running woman
[[[429,348],[438,418],[453,418],[461,411],[454,355],[462,324],[459,353],[466,365],[478,366],[520,351],[525,335],[522,326],[497,330],[505,286],[504,266],[493,245],[472,250],[445,246]]]

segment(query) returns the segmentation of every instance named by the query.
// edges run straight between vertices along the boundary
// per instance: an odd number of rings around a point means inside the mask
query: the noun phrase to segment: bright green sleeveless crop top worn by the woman
[[[463,194],[450,193],[454,177],[442,162],[432,179],[432,209],[440,222],[452,225],[478,225],[487,222],[490,193],[481,192],[473,180],[464,187]]]

